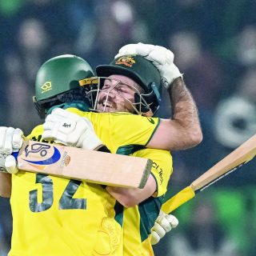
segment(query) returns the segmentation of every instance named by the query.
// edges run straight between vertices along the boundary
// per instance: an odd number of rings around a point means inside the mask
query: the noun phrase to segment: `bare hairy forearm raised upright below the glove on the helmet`
[[[176,78],[170,88],[174,126],[180,131],[184,146],[196,146],[202,142],[202,130],[194,99],[182,78]]]

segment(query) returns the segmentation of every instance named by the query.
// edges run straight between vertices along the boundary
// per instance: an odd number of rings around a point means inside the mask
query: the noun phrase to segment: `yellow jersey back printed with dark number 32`
[[[42,126],[39,126],[28,138],[38,138],[41,133]],[[45,180],[36,183],[40,177]],[[118,250],[122,248],[116,244],[122,242],[122,226],[114,221],[115,200],[102,186],[86,182],[76,186],[66,178],[19,171],[13,175],[12,187],[10,203],[14,224],[10,256],[98,255],[95,246],[102,222],[108,223],[104,226],[108,239],[104,240],[101,250],[107,252],[106,255],[119,255]],[[44,200],[42,191],[46,193]],[[78,203],[74,209],[60,210],[68,206],[70,199],[85,200],[86,206]],[[34,212],[34,203],[46,210]]]

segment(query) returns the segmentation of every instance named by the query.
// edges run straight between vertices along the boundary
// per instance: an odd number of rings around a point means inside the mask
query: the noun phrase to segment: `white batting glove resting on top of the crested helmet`
[[[178,67],[174,65],[174,54],[162,46],[154,46],[139,42],[122,46],[115,58],[128,54],[142,55],[153,62],[160,72],[162,85],[168,89],[174,79],[182,77]]]

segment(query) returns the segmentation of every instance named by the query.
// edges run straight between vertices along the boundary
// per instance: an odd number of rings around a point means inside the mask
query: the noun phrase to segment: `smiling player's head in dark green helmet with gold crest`
[[[109,65],[97,66],[96,73],[99,79],[97,87],[92,85],[87,93],[93,110],[145,116],[152,116],[158,110],[161,77],[152,62],[141,55],[115,58]],[[122,98],[122,102],[116,98]]]

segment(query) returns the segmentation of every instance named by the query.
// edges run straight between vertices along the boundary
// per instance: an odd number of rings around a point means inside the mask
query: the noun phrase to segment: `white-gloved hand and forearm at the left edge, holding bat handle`
[[[16,160],[11,155],[22,146],[22,130],[0,127],[0,196],[10,198],[11,175],[18,172]],[[3,172],[4,171],[4,172]],[[5,173],[8,171],[10,174]]]

